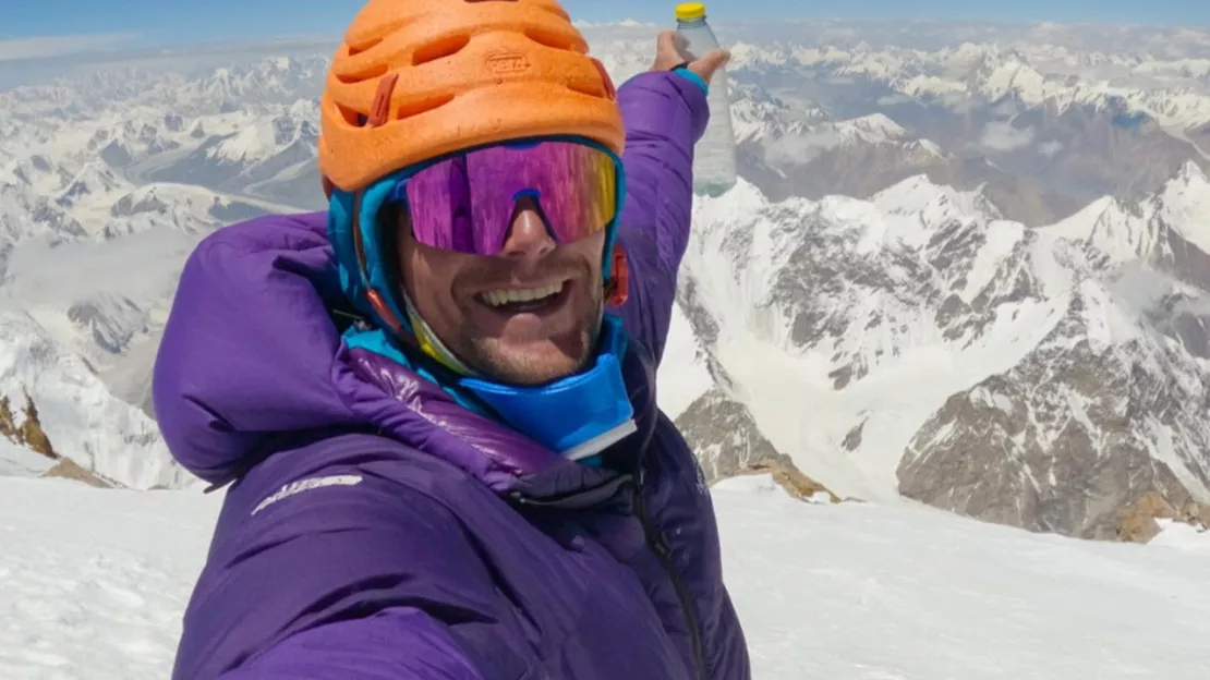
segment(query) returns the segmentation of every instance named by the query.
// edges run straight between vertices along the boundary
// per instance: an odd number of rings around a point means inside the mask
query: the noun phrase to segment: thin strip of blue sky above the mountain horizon
[[[336,39],[364,0],[0,0],[0,60],[122,47]],[[675,1],[564,0],[576,19],[674,23]],[[928,18],[1210,25],[1210,0],[714,0],[716,23]]]

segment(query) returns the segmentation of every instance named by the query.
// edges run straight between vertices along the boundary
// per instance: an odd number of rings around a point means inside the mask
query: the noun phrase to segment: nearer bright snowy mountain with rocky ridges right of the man
[[[772,446],[841,495],[1112,537],[1147,491],[1210,500],[1198,206],[1194,165],[1043,229],[922,175],[870,201],[743,183],[696,207],[697,370],[666,391],[692,386],[678,422],[711,469]]]

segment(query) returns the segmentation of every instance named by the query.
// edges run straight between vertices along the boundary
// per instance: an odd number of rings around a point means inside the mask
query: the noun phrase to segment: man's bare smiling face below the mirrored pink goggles
[[[554,145],[546,151],[581,152]],[[502,169],[509,167],[501,163]],[[505,188],[503,195],[509,184],[525,184],[507,177],[484,181]],[[501,200],[502,206],[509,203]],[[594,348],[601,322],[605,230],[560,244],[540,211],[537,200],[523,196],[515,201],[515,214],[497,217],[511,229],[494,258],[425,246],[414,236],[407,211],[388,217],[397,225],[402,278],[414,300],[415,321],[432,330],[434,344],[448,339],[449,351],[442,358],[463,374],[541,385],[580,370]],[[606,221],[605,214],[569,219]]]

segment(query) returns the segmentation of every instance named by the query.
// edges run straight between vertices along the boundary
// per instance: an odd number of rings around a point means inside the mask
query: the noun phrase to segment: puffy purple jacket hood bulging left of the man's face
[[[345,306],[324,213],[221,229],[185,263],[152,375],[160,428],[223,483],[283,432],[356,426],[332,380]]]

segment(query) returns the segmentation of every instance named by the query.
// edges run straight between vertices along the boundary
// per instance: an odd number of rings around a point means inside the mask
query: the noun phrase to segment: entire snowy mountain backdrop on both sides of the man
[[[584,28],[618,82],[656,30]],[[1210,34],[722,36],[744,180],[696,206],[661,375],[711,478],[793,461],[840,496],[1088,537],[1148,491],[1210,502]],[[57,451],[188,483],[148,403],[175,277],[224,224],[322,209],[327,53],[0,92],[0,394]]]

